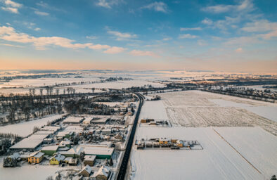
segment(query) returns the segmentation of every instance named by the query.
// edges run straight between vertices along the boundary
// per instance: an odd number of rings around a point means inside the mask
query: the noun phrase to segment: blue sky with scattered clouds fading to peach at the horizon
[[[0,69],[277,72],[277,1],[0,0]]]

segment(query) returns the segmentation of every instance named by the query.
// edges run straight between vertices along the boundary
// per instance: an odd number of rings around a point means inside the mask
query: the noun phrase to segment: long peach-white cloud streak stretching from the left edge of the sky
[[[67,39],[64,37],[32,37],[29,34],[15,32],[15,29],[13,27],[6,27],[6,26],[0,27],[0,39],[6,40],[6,41],[24,43],[24,44],[30,43],[30,44],[33,44],[36,47],[36,49],[39,49],[39,50],[46,49],[46,46],[60,46],[68,49],[84,49],[84,48],[95,49],[95,50],[106,49],[106,51],[104,51],[105,53],[120,53],[124,51],[123,48],[117,47],[117,46],[110,47],[108,45],[102,45],[102,44],[74,43],[75,42],[74,40]]]

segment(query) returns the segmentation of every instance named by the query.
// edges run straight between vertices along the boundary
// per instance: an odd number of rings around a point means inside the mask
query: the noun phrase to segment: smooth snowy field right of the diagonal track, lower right
[[[266,179],[277,174],[277,137],[259,127],[217,127],[228,143],[240,152]]]

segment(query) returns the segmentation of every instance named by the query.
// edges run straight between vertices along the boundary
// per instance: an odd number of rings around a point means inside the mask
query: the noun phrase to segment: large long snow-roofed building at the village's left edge
[[[33,134],[32,136],[22,139],[15,145],[11,146],[11,150],[34,150],[41,145],[44,139],[49,136],[48,134]]]

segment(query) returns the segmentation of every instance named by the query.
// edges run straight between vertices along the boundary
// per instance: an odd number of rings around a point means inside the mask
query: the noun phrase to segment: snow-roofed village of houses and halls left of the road
[[[133,100],[108,102],[112,115],[67,114],[34,128],[9,148],[3,167],[48,165],[64,169],[48,179],[115,179],[136,113]]]

